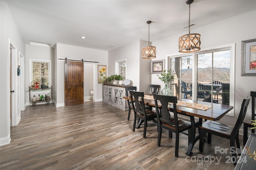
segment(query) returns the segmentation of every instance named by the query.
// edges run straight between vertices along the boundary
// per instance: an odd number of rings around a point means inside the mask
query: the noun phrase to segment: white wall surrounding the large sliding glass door
[[[192,29],[191,33],[201,34],[201,49],[217,47],[236,43],[235,59],[235,117],[224,116],[220,122],[234,125],[241,108],[242,100],[250,97],[250,91],[256,91],[256,76],[241,76],[241,41],[256,38],[256,10],[227,20],[218,21],[204,27]],[[152,42],[157,49],[157,58],[166,59],[167,55],[178,53],[178,38],[185,32]],[[152,84],[161,83],[156,75],[152,74]],[[248,107],[246,118],[250,119],[251,102]],[[243,128],[243,127],[242,127]]]

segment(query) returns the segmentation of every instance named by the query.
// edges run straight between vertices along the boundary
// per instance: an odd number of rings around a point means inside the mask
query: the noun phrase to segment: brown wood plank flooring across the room
[[[188,137],[180,134],[179,158],[174,156],[175,134],[163,129],[158,147],[156,124],[132,132],[133,113],[104,102],[76,106],[27,106],[17,126],[11,127],[11,142],[0,147],[1,170],[233,170],[226,163],[231,154],[214,153],[214,147],[229,148],[229,141],[213,136],[204,152],[195,144],[192,157],[185,154]],[[240,140],[242,141],[242,139]],[[210,158],[220,159],[210,162]],[[196,158],[203,158],[196,160]]]

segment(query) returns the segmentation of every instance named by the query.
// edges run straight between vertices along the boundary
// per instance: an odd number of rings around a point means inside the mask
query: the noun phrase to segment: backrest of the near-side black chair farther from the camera
[[[141,98],[141,101],[139,101],[139,97]],[[140,113],[146,116],[146,111],[145,111],[145,104],[144,104],[144,92],[137,92],[137,91],[132,91],[130,90],[130,98],[132,103],[132,108],[135,113]]]

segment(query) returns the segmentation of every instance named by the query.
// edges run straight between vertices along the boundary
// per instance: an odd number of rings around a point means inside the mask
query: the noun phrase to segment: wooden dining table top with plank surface
[[[152,96],[152,94],[145,94],[145,96]],[[130,96],[124,96],[123,97],[126,100],[130,100]],[[211,108],[207,110],[201,110],[201,109],[195,109],[191,107],[185,107],[185,106],[179,106],[176,105],[177,112],[182,115],[189,115],[194,117],[199,117],[202,119],[217,121],[220,120],[226,113],[231,111],[234,107],[229,105],[223,105],[223,104],[214,104],[210,102],[201,102],[201,101],[195,101],[195,100],[189,100],[189,99],[178,99],[183,102],[191,103],[191,104],[201,104],[205,106],[212,106]],[[144,97],[144,103],[148,106],[155,107],[155,101],[153,99],[148,99]],[[161,103],[158,101],[158,106],[161,107]],[[170,111],[173,109],[173,105],[170,104]]]

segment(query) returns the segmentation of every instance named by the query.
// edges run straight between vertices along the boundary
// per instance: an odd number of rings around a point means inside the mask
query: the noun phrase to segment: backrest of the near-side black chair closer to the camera
[[[170,125],[173,125],[176,127],[176,129],[178,130],[178,115],[177,115],[177,109],[176,109],[176,104],[178,103],[178,99],[176,96],[165,96],[165,95],[159,95],[159,94],[153,94],[154,96],[154,100],[155,100],[155,106],[156,106],[156,116],[157,116],[157,120],[158,121],[163,121],[165,123],[168,123]],[[160,113],[159,113],[159,107],[158,107],[158,101],[160,101],[161,105],[162,105],[162,117],[160,117]],[[172,112],[174,113],[174,120],[171,121],[170,119],[170,112],[168,110],[168,105],[172,103],[173,104],[173,110]],[[160,123],[160,122],[158,122]]]

